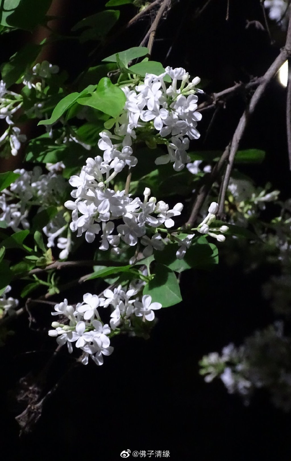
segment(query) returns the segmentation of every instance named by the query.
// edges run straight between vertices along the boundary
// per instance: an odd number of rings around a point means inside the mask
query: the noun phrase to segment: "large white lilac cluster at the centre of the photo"
[[[103,133],[103,136],[104,133]],[[127,148],[128,151],[129,148]],[[124,151],[124,148],[122,149]],[[106,158],[106,154],[104,154]],[[129,157],[133,157],[128,155]],[[116,163],[114,162],[116,167]],[[132,159],[129,160],[133,161]],[[123,160],[121,161],[123,164]],[[164,201],[158,201],[155,197],[149,199],[151,190],[145,188],[144,201],[139,198],[131,198],[125,190],[115,192],[106,188],[106,183],[115,175],[116,170],[110,176],[112,168],[106,160],[100,156],[95,159],[88,158],[86,166],[83,166],[79,176],[72,176],[70,184],[77,189],[71,192],[75,201],[66,201],[65,207],[72,211],[72,222],[70,229],[77,231],[77,236],[85,232],[86,241],[91,243],[95,235],[99,234],[102,225],[101,245],[99,249],[107,250],[109,245],[117,247],[120,238],[129,246],[138,243],[140,237],[142,244],[149,247],[146,254],[152,253],[152,248],[163,249],[162,237],[156,233],[152,238],[146,238],[147,229],[156,228],[160,225],[173,227],[175,222],[172,219],[180,215],[183,205],[177,203],[172,210]],[[119,170],[118,170],[119,171]],[[106,175],[106,180],[103,175]],[[81,216],[79,216],[79,214]],[[157,216],[155,216],[157,215]],[[113,234],[115,225],[113,219],[122,219],[123,224],[117,225],[117,234]]]

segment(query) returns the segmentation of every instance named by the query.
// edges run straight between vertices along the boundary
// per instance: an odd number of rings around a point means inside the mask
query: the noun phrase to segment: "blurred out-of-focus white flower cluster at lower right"
[[[255,389],[271,392],[272,402],[291,410],[291,338],[283,334],[283,323],[276,322],[256,331],[236,348],[229,344],[221,355],[213,352],[200,361],[201,374],[211,382],[220,377],[230,394],[239,393],[248,404]]]

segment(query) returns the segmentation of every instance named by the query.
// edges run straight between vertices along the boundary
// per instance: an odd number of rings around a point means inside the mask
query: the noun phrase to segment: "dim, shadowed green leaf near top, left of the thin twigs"
[[[101,40],[112,29],[119,15],[118,10],[106,10],[92,14],[75,24],[72,31],[86,28],[80,35],[81,43],[87,40]]]

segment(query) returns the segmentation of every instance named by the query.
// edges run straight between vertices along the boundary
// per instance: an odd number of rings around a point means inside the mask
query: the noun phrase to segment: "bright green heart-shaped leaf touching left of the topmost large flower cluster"
[[[91,96],[78,99],[79,104],[94,107],[114,118],[122,112],[125,101],[123,91],[107,77],[100,80],[97,90]]]

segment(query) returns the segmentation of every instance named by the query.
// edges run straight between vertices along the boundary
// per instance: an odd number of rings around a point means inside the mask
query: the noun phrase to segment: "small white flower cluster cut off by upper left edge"
[[[3,80],[0,81],[0,119],[5,118],[8,128],[0,136],[0,146],[8,143],[11,154],[17,155],[21,142],[26,141],[26,136],[20,133],[20,129],[14,126],[12,115],[22,106],[22,96],[13,91],[8,91]]]

